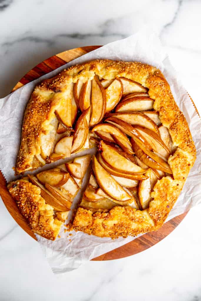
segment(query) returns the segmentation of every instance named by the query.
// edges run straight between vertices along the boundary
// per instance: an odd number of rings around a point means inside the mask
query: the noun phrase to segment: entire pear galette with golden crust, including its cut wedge
[[[160,70],[139,62],[95,60],[35,87],[24,114],[16,173],[94,146],[98,151],[71,229],[111,238],[158,229],[196,159],[187,121]],[[58,220],[53,210],[70,209],[90,160],[85,168],[76,158],[64,168],[30,175],[32,184],[18,180],[9,191],[29,208],[29,198],[38,206],[39,194],[32,191],[39,186],[43,206],[52,206],[53,227]],[[21,198],[20,187],[26,192]],[[37,218],[40,212],[38,206]],[[28,221],[42,233],[39,219]]]

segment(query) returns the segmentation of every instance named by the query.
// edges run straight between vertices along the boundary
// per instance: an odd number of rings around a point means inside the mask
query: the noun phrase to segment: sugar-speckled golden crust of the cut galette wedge
[[[32,231],[55,240],[64,223],[66,212],[59,213],[60,215],[54,218],[53,207],[45,203],[40,195],[40,188],[26,180],[10,182],[8,190]]]

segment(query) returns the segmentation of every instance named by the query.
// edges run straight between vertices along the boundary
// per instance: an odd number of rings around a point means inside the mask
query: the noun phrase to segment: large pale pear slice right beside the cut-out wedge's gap
[[[119,201],[128,201],[131,199],[130,195],[121,185],[100,165],[95,156],[92,158],[92,166],[96,182],[106,194]]]

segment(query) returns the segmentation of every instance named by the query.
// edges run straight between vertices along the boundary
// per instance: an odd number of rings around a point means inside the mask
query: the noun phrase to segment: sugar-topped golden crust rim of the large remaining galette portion
[[[65,89],[68,89],[68,85],[71,82],[77,82],[77,79],[85,82],[87,79],[92,79],[95,74],[103,79],[125,77],[149,88],[149,96],[155,100],[154,109],[159,112],[161,123],[168,128],[173,145],[177,147],[174,154],[168,159],[174,179],[163,177],[157,182],[152,192],[154,200],[150,202],[149,208],[146,210],[140,211],[128,206],[116,206],[107,213],[93,213],[90,210],[79,208],[73,222],[73,228],[88,234],[112,238],[156,230],[163,224],[174,206],[196,159],[196,150],[187,121],[177,107],[171,94],[170,86],[160,70],[139,62],[109,60],[87,62],[86,64],[64,70],[53,79],[43,81],[35,88],[33,93],[35,94],[37,91],[38,95],[42,97],[41,95],[51,92],[53,99],[55,99],[53,103],[50,102],[50,111],[53,112],[55,107],[60,104],[59,95],[64,93]],[[32,98],[28,104],[29,110],[32,110]],[[56,105],[54,107],[55,102]],[[36,110],[36,114],[38,114],[37,112]],[[25,114],[24,124],[27,122],[27,116]],[[41,118],[41,124],[44,120]],[[33,120],[32,126],[34,127]],[[41,134],[41,128],[37,129],[38,135]],[[23,141],[23,138],[25,141]],[[35,143],[33,138],[35,139],[35,137],[31,135],[28,138],[29,140],[22,132],[23,144],[20,146],[16,166],[17,172],[25,170],[26,164],[29,164],[29,169],[32,168],[34,151],[29,151],[28,149],[27,152],[27,145],[29,142],[33,145]],[[36,146],[34,147],[37,148]],[[146,221],[144,221],[142,216],[146,216]]]

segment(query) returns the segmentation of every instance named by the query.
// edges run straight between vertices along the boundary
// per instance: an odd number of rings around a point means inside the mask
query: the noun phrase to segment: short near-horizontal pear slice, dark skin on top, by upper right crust
[[[120,101],[115,108],[115,112],[140,112],[153,109],[154,100],[149,97],[133,97]]]

